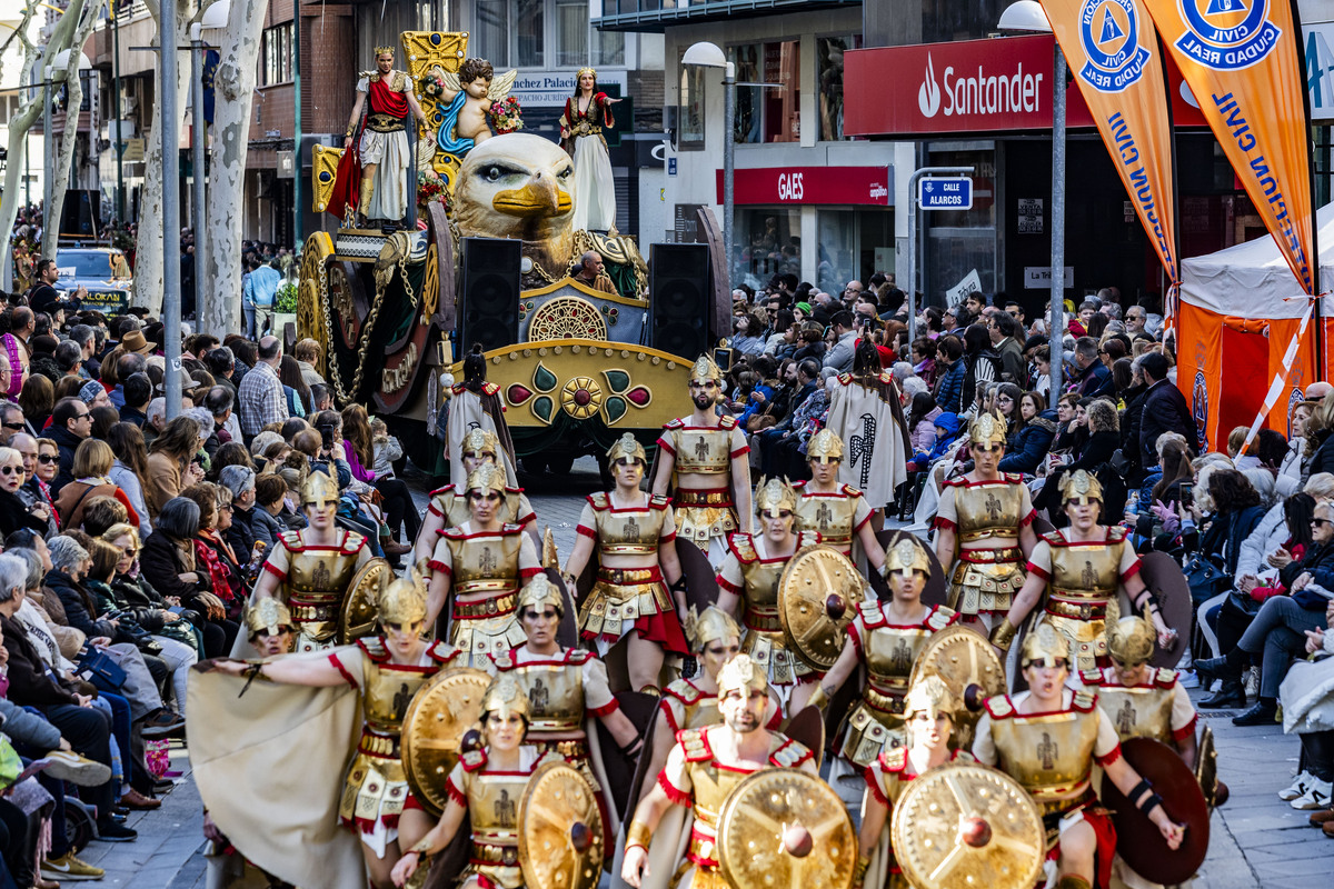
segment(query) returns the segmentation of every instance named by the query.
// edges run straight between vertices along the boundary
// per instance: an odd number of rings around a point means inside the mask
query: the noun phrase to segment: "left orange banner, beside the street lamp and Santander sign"
[[[1169,280],[1179,284],[1166,75],[1141,1],[1042,0],[1042,8],[1139,223]]]

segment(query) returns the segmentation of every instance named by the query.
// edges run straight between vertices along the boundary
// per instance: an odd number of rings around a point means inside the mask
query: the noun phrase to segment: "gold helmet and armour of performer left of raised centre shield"
[[[796,492],[778,478],[771,478],[755,492],[755,509],[796,510]],[[798,534],[796,550],[820,542],[819,534]],[[786,700],[799,682],[814,682],[819,676],[804,661],[787,650],[783,625],[778,620],[778,582],[791,556],[770,556],[762,534],[732,534],[728,553],[718,572],[718,585],[744,602],[742,624],[746,638],[742,653],[766,670],[768,684]],[[794,552],[795,554],[795,552]]]

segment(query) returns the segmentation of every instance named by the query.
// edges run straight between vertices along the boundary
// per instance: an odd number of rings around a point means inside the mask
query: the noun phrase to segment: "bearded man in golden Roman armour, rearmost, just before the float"
[[[699,356],[690,371],[695,409],[663,427],[654,477],[654,493],[663,496],[675,473],[676,533],[698,544],[715,565],[727,553],[727,536],[751,528],[750,445],[735,417],[714,412],[722,385],[714,360]]]

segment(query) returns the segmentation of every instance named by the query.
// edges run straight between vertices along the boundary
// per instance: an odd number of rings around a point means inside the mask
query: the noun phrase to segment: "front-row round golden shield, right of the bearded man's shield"
[[[1033,797],[1009,774],[971,764],[910,781],[894,804],[890,842],[915,889],[1027,889],[1046,857]]]

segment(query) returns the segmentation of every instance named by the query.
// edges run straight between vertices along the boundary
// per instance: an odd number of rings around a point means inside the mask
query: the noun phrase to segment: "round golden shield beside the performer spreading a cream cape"
[[[422,808],[439,817],[450,796],[444,780],[459,762],[464,732],[482,718],[482,694],[491,677],[456,666],[432,676],[403,714],[403,773]]]

